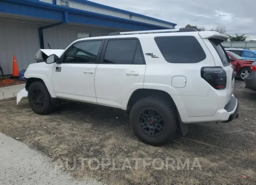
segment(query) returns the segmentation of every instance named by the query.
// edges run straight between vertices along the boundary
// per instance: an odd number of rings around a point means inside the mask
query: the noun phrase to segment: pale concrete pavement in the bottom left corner
[[[72,179],[68,173],[54,169],[49,157],[24,143],[0,133],[0,184],[2,185],[96,185],[94,179]]]

